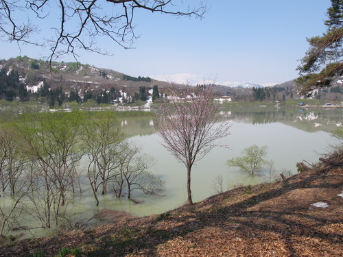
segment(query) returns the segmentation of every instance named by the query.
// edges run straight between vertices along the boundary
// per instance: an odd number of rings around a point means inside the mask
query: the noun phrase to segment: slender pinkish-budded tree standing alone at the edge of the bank
[[[188,203],[193,204],[191,168],[217,146],[215,140],[230,134],[230,124],[215,123],[219,114],[209,89],[187,88],[180,93],[180,97],[174,93],[172,98],[172,107],[165,105],[161,108],[155,126],[158,135],[164,140],[162,145],[187,167]]]

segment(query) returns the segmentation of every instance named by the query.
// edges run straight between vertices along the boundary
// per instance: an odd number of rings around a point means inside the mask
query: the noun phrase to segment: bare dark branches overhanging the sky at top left
[[[76,58],[77,48],[107,54],[97,47],[97,39],[106,36],[121,47],[131,47],[137,39],[134,33],[134,18],[139,10],[200,19],[208,10],[206,3],[199,1],[198,6],[190,7],[187,1],[1,0],[0,36],[9,41],[44,45],[44,42],[31,39],[32,34],[40,30],[34,21],[41,23],[42,20],[51,21],[55,18],[51,24],[55,35],[48,40],[51,49],[50,63],[54,58],[69,53]],[[54,10],[54,13],[57,10],[58,16],[51,17],[51,10]],[[27,20],[23,17],[27,17]]]

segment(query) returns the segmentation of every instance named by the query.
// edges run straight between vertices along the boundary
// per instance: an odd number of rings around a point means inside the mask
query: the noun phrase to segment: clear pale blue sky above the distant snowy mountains
[[[99,38],[98,46],[112,55],[79,51],[78,61],[182,84],[281,84],[298,77],[296,67],[309,48],[306,38],[325,32],[325,13],[331,1],[208,0],[207,5],[209,12],[202,20],[139,12],[133,22],[139,35],[134,48],[123,49]],[[49,23],[38,25],[47,28],[38,38],[49,33]],[[1,59],[49,55],[48,47],[19,47],[1,40],[0,49]],[[75,61],[73,56],[61,60]]]

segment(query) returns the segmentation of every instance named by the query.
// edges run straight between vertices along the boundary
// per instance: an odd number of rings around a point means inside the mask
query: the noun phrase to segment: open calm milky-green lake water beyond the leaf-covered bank
[[[295,174],[296,162],[317,162],[320,154],[326,153],[330,145],[337,143],[331,133],[343,126],[342,110],[223,109],[221,114],[221,121],[230,121],[231,127],[230,135],[218,143],[228,147],[216,147],[193,167],[191,189],[195,202],[216,193],[213,184],[218,176],[223,178],[224,191],[234,186],[269,181],[264,175],[252,177],[238,168],[229,168],[226,165],[226,160],[241,156],[241,151],[246,147],[254,144],[266,145],[266,159],[274,162],[276,175],[279,176],[281,172]],[[156,159],[152,172],[165,180],[165,192],[163,195],[153,196],[133,195],[141,204],[134,204],[126,198],[117,199],[110,194],[100,196],[99,208],[95,208],[91,191],[84,190],[82,197],[75,199],[73,205],[69,206],[72,208],[70,212],[73,215],[70,219],[73,219],[73,222],[86,220],[103,208],[144,216],[177,208],[187,201],[187,170],[161,145],[162,139],[154,130],[152,118],[121,119],[119,122],[129,140],[140,145],[142,152]],[[0,199],[0,204],[3,200]],[[45,233],[34,234],[41,236]]]

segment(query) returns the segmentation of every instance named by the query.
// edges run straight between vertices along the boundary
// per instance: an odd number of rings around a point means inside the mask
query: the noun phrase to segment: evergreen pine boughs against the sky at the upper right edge
[[[343,1],[331,0],[327,16],[329,20],[324,23],[327,32],[307,39],[310,47],[298,66],[297,83],[303,95],[311,94],[315,88],[331,86],[335,78],[343,75]]]

